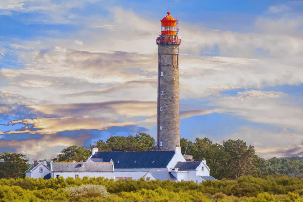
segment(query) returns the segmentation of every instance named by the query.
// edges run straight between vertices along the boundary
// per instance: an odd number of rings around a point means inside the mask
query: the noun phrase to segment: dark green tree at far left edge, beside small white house
[[[0,163],[0,178],[18,178],[25,177],[27,170],[27,156],[23,154],[4,152],[0,154],[0,159],[4,162]]]

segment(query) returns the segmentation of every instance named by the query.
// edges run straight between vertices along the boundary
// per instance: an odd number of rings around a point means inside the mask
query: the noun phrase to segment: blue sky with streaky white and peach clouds
[[[179,17],[180,136],[303,156],[303,1],[0,1],[0,153],[156,139],[156,38]]]

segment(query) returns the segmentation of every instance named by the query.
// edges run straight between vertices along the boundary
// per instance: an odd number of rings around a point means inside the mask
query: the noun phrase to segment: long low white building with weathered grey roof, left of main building
[[[51,161],[51,177],[104,177],[108,179],[114,178],[113,162],[52,162]]]

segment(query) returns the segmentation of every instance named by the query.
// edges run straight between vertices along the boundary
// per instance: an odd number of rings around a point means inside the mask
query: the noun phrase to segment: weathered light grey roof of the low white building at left
[[[83,172],[83,171],[94,171],[94,172],[114,172],[114,169],[112,167],[111,163],[83,163],[83,166],[81,166],[81,163],[75,162],[75,163],[54,163],[52,162],[52,171],[55,172]]]

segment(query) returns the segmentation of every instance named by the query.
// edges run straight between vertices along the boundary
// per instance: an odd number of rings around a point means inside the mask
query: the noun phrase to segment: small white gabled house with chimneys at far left
[[[44,179],[50,178],[50,169],[47,167],[47,161],[34,161],[34,165],[25,171],[25,177],[39,178],[44,177]]]

